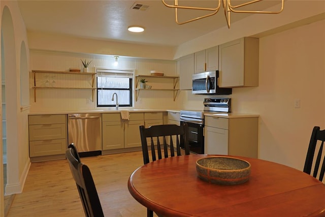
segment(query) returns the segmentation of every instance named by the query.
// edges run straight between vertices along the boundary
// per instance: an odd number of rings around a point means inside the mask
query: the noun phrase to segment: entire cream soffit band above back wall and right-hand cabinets
[[[268,10],[278,11],[279,5]],[[223,11],[219,11],[218,13],[223,13]],[[270,29],[277,31],[283,28],[290,28],[293,25],[297,25],[297,21],[309,19],[317,15],[322,14],[320,19],[324,19],[324,13],[325,1],[323,0],[286,0],[284,10],[280,14],[252,14],[241,21],[231,23],[230,29],[228,27],[216,29],[209,34],[185,42],[176,48],[87,40],[39,32],[27,33],[28,46],[34,50],[96,53],[172,60],[241,37],[261,34],[270,31]]]

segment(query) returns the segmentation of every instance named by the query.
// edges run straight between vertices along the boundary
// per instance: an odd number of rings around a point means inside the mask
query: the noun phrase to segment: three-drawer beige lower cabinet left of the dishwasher
[[[28,128],[31,162],[66,158],[67,115],[29,115]]]

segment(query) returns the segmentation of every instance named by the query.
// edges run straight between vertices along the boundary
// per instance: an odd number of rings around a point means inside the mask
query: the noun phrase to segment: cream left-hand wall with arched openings
[[[27,66],[21,65],[21,60],[28,62],[28,45],[26,27],[22,20],[20,10],[16,1],[1,1],[2,30],[4,38],[4,56],[2,59],[2,70],[5,69],[6,85],[6,120],[7,120],[7,185],[6,194],[19,193],[22,191],[25,177],[28,172],[28,132],[27,114],[28,106],[21,109],[20,97],[20,72],[27,72]],[[4,13],[5,11],[5,13]],[[10,32],[10,33],[8,33]],[[21,48],[26,49],[21,56]],[[27,51],[27,53],[26,53]],[[25,66],[26,69],[21,69]],[[22,81],[28,83],[28,81]],[[1,95],[3,97],[3,95]],[[2,142],[0,148],[3,148]],[[3,189],[3,186],[1,186]],[[3,194],[1,195],[3,196]],[[2,213],[1,213],[2,214]]]

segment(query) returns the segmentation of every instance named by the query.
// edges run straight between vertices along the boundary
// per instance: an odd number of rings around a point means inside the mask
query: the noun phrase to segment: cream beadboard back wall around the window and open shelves
[[[82,72],[83,67],[80,59],[91,61],[89,72],[95,72],[95,67],[104,67],[109,69],[134,70],[135,75],[150,75],[151,70],[163,72],[166,76],[177,75],[177,62],[174,60],[155,60],[121,56],[118,58],[118,65],[114,66],[115,58],[110,55],[30,50],[29,83],[31,112],[85,111],[97,109],[96,91],[92,100],[91,89],[37,89],[36,102],[34,102],[34,89],[32,89],[34,80],[31,70],[68,72],[69,68],[80,68]],[[48,84],[46,82],[47,80],[49,81]],[[146,80],[148,81],[148,85],[155,86],[156,88],[172,88],[173,80],[157,80],[151,78],[146,78]],[[36,74],[36,84],[37,86],[48,85],[50,87],[90,87],[91,76],[39,73]],[[138,109],[171,109],[176,108],[177,105],[174,102],[172,90],[150,90],[139,93],[138,101],[136,102],[134,99],[134,107]],[[103,108],[99,109],[102,110]]]

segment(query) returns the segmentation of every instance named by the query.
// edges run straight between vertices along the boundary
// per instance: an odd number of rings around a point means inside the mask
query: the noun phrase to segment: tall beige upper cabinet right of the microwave
[[[258,86],[257,38],[219,45],[219,87]]]

